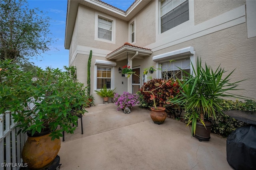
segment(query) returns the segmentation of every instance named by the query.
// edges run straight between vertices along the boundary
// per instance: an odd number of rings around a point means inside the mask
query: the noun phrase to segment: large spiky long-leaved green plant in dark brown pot
[[[185,80],[183,84],[177,80],[182,88],[179,98],[173,98],[169,102],[184,105],[186,111],[190,113],[187,126],[192,125],[192,135],[199,141],[208,141],[212,124],[205,118],[215,119],[216,111],[222,113],[223,108],[219,103],[223,98],[240,97],[231,94],[230,90],[237,90],[235,88],[241,81],[230,82],[230,75],[234,70],[223,78],[226,71],[220,65],[216,70],[207,64],[203,68],[201,59],[197,59],[196,68],[193,65],[192,68],[193,74],[186,72],[188,76],[183,77]]]

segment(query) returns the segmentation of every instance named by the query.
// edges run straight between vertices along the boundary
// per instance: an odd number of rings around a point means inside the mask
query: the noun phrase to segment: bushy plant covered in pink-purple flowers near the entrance
[[[136,104],[139,104],[139,96],[137,94],[131,94],[128,92],[124,92],[122,95],[116,93],[113,98],[116,106],[118,106],[118,110],[125,109],[128,107],[131,109]]]

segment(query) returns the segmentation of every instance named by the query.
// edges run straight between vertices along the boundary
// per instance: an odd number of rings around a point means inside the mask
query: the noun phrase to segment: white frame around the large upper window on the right
[[[160,1],[156,0],[156,41],[159,41],[167,37],[172,37],[174,36],[175,33],[181,31],[187,31],[188,27],[192,27],[195,25],[194,0],[188,0],[189,20],[161,33],[160,3]]]

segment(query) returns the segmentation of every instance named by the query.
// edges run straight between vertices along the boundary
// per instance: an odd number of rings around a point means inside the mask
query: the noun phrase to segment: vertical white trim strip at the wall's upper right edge
[[[256,0],[246,0],[247,37],[256,37]]]

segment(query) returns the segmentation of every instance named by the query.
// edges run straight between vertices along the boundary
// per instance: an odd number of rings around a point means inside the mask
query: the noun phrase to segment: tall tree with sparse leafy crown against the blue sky
[[[0,59],[24,63],[49,51],[50,18],[26,0],[0,1]]]

